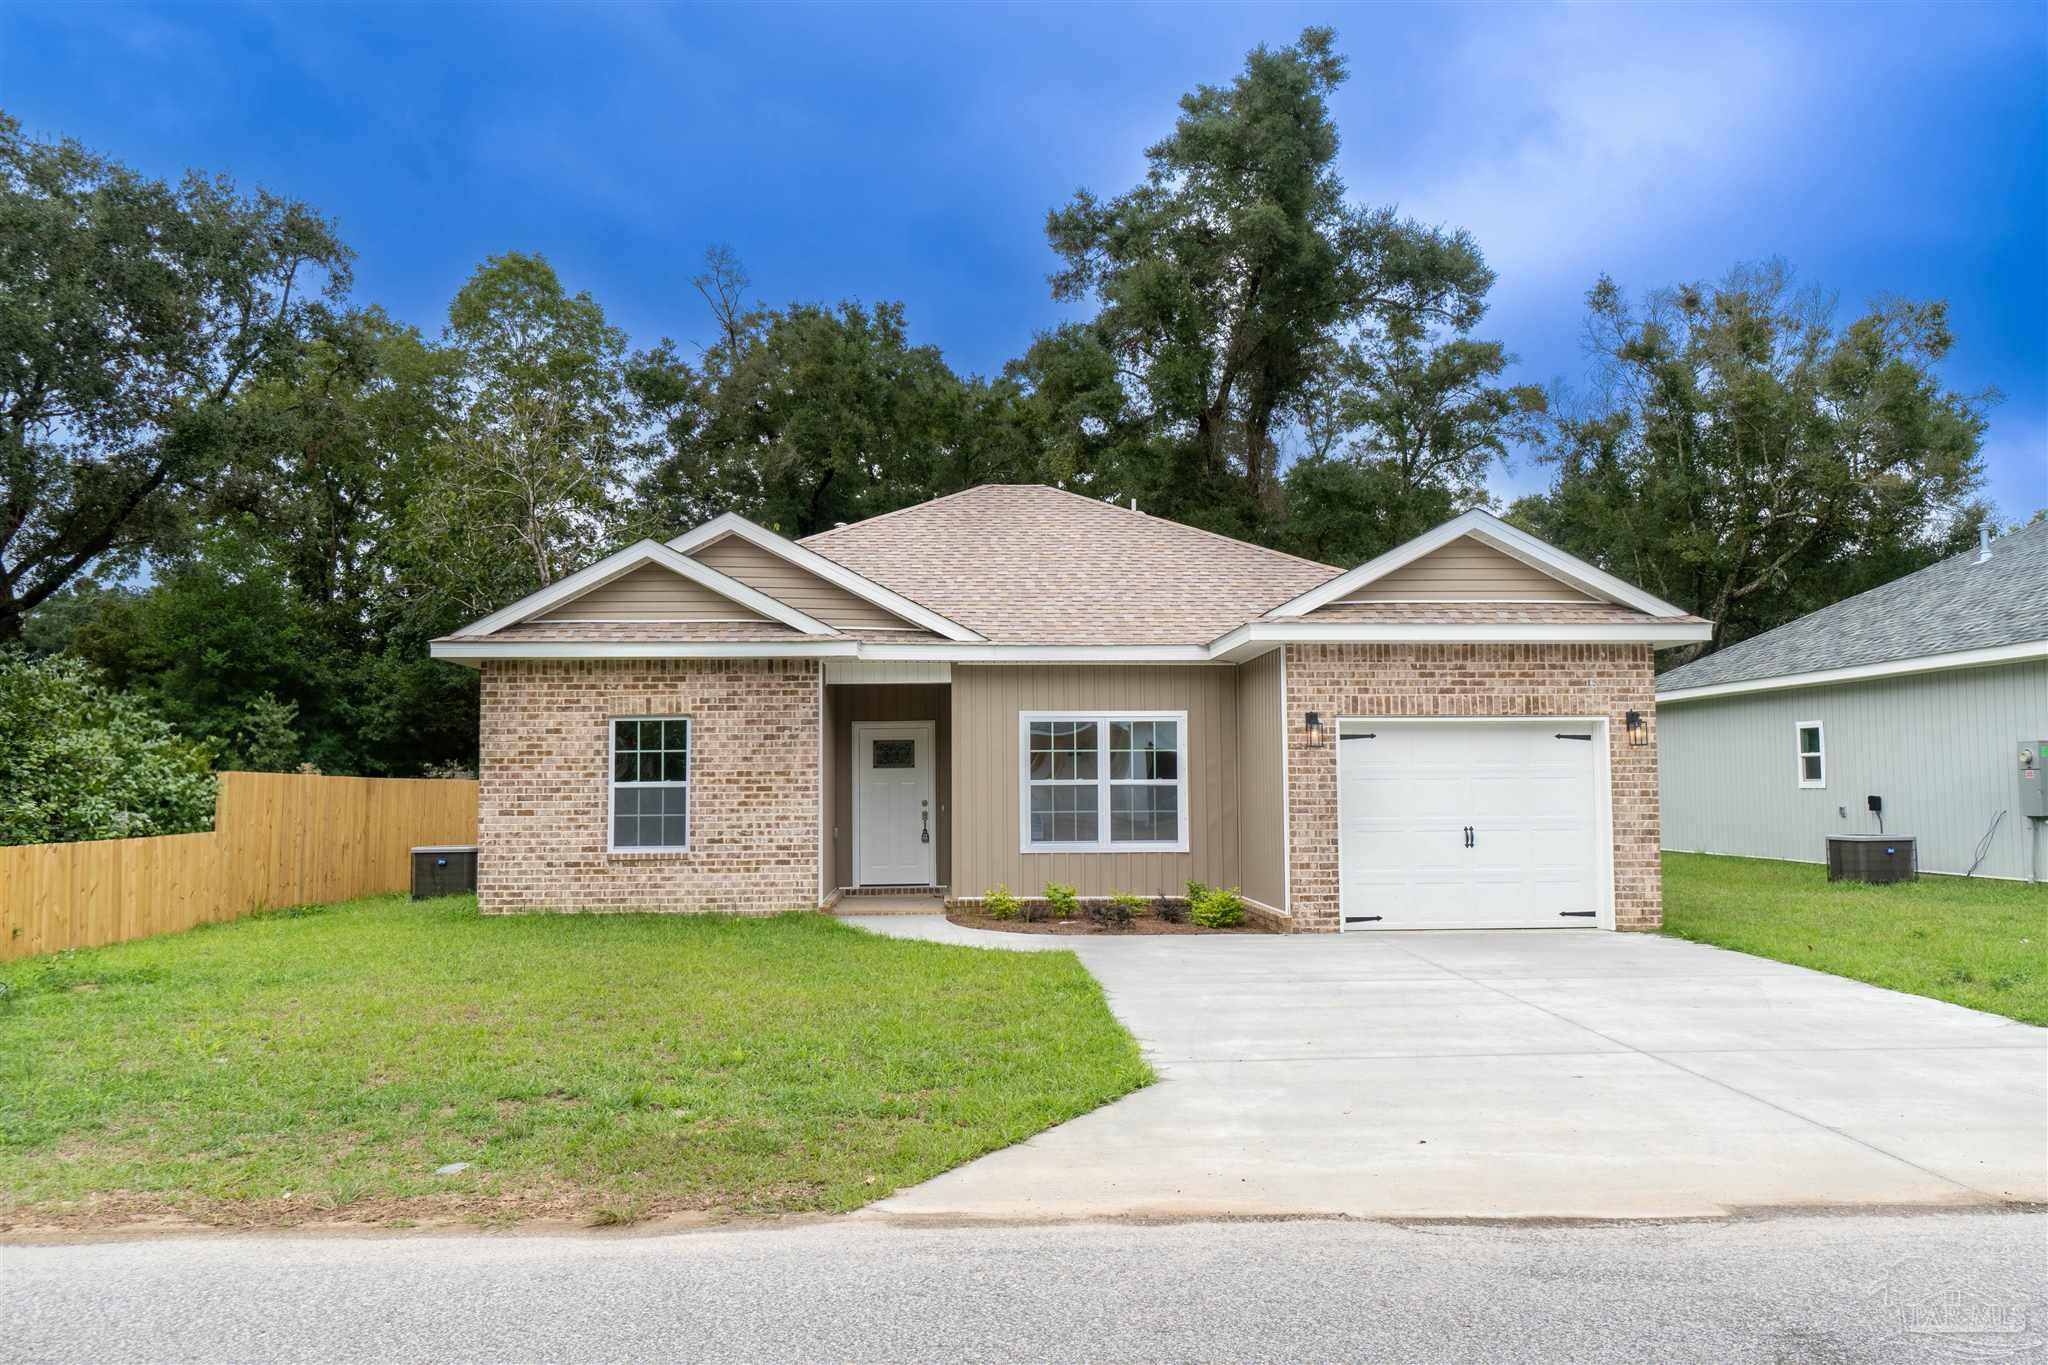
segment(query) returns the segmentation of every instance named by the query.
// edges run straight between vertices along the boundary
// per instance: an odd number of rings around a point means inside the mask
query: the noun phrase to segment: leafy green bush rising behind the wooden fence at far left
[[[0,843],[213,829],[213,763],[84,659],[0,651]]]

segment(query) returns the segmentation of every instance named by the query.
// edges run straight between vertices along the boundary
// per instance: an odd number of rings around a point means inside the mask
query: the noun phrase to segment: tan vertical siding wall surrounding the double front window
[[[1026,710],[1186,710],[1186,853],[1024,853],[1018,829],[1018,716]],[[1239,884],[1237,669],[965,667],[952,669],[952,888],[979,896],[1004,882],[1036,896],[1067,882],[1083,896],[1180,894],[1194,878]]]

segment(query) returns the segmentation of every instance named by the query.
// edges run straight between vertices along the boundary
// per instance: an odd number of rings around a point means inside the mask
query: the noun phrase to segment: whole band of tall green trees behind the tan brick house
[[[1346,78],[1305,29],[1182,96],[1139,184],[1047,215],[1067,321],[993,375],[901,301],[770,303],[731,246],[696,344],[631,350],[520,250],[422,332],[350,297],[307,205],[0,117],[0,763],[59,774],[0,837],[182,827],[209,761],[473,763],[475,675],[428,641],[721,512],[805,536],[1042,481],[1354,565],[1534,456],[1552,483],[1511,516],[1714,645],[1974,534],[1991,395],[1944,383],[1942,303],[1837,323],[1780,264],[1604,278],[1591,395],[1544,395],[1483,334],[1479,244],[1348,196]],[[94,792],[94,753],[162,800]]]

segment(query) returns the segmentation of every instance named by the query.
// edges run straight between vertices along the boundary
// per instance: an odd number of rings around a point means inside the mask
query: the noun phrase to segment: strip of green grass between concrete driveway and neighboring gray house
[[[2048,1023],[2048,886],[1665,853],[1665,933]]]

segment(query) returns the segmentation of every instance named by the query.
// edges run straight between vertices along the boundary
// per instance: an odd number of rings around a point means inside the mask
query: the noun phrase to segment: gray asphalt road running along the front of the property
[[[207,1236],[0,1246],[0,1361],[1982,1361],[2044,1293],[1999,1212]]]

